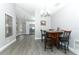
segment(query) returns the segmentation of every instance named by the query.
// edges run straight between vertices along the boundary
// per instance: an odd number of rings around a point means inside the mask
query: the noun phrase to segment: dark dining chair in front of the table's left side
[[[46,32],[45,39],[44,39],[44,50],[51,49],[53,51],[53,40],[52,37],[49,37],[49,33]]]

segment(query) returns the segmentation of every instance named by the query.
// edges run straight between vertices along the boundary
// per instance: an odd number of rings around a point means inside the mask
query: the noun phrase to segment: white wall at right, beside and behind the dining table
[[[69,0],[70,1],[70,0]],[[79,2],[67,1],[68,4],[56,14],[52,15],[52,28],[72,30],[70,47],[74,49],[74,41],[79,40]]]

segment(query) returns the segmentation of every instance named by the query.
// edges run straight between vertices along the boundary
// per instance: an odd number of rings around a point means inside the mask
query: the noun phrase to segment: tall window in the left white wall
[[[5,14],[5,37],[12,35],[12,17]]]

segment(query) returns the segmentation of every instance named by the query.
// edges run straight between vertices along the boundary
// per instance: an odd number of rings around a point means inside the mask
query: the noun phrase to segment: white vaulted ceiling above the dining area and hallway
[[[27,0],[25,3],[16,3],[16,15],[17,18],[26,19],[33,17],[37,10],[53,14],[64,5],[64,0]]]

